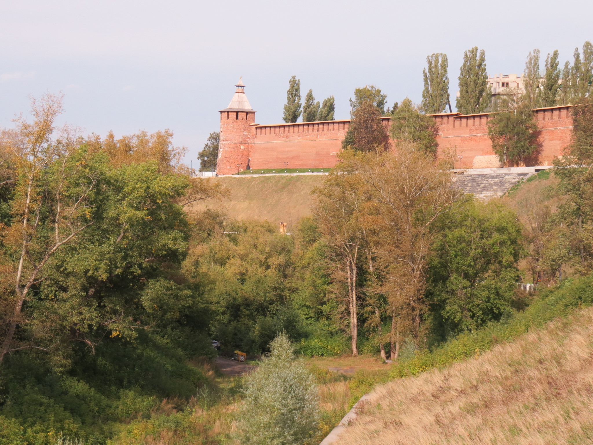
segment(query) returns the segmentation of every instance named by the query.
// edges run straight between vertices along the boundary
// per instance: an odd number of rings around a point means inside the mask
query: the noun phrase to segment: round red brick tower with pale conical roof
[[[216,173],[234,174],[248,169],[256,112],[245,95],[242,78],[235,87],[235,96],[221,110],[221,135]]]

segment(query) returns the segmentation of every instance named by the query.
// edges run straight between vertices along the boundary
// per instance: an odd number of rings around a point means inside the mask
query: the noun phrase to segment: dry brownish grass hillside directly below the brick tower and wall
[[[288,230],[299,218],[311,215],[311,190],[321,185],[325,176],[255,176],[212,177],[228,187],[230,198],[197,204],[195,209],[218,209],[231,218],[267,220],[288,224]]]

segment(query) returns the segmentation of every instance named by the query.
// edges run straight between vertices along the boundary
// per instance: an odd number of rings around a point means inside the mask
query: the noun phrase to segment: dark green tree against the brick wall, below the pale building
[[[528,102],[496,113],[488,122],[492,151],[505,166],[537,165],[539,132]]]

